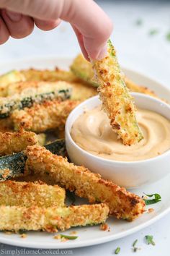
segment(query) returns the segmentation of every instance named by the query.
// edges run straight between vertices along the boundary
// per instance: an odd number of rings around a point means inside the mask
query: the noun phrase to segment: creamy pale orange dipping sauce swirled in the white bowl
[[[117,139],[102,106],[85,111],[71,128],[71,137],[79,147],[102,158],[115,161],[140,161],[161,155],[170,149],[170,121],[146,109],[138,109],[137,120],[144,139],[125,146]]]

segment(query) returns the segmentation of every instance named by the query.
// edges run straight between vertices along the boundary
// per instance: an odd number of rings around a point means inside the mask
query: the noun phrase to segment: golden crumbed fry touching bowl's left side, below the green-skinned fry
[[[31,108],[15,110],[12,115],[14,129],[23,127],[33,132],[45,132],[48,129],[64,127],[68,114],[79,104],[79,101],[45,101],[34,104]]]

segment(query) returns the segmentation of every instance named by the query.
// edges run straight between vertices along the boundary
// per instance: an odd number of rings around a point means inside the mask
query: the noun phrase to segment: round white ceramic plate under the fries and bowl
[[[25,69],[29,67],[35,68],[53,68],[61,67],[68,69],[71,59],[54,59],[54,58],[41,58],[41,59],[27,59],[24,61],[10,62],[6,64],[0,64],[0,73],[7,72],[11,69]],[[132,80],[138,82],[140,85],[146,85],[158,93],[162,98],[169,101],[170,90],[165,86],[155,82],[148,77],[138,74],[128,69],[124,69],[125,74]],[[117,221],[115,218],[109,218],[107,221],[110,231],[101,231],[99,226],[74,228],[66,232],[60,232],[59,234],[70,234],[71,231],[77,231],[78,239],[70,240],[67,242],[61,242],[60,240],[53,239],[54,234],[48,234],[45,232],[27,232],[27,238],[22,239],[19,234],[4,234],[0,232],[0,242],[4,244],[12,244],[21,247],[34,247],[45,249],[62,249],[62,248],[76,248],[84,247],[94,244],[102,244],[121,237],[133,234],[146,226],[151,225],[153,222],[158,221],[160,218],[170,212],[170,194],[169,194],[170,175],[165,179],[152,184],[150,186],[141,187],[140,189],[133,189],[137,195],[143,195],[143,192],[147,194],[159,193],[162,197],[162,201],[156,205],[151,205],[150,208],[155,210],[152,213],[144,213],[137,220],[133,222]],[[149,208],[149,207],[148,207]]]

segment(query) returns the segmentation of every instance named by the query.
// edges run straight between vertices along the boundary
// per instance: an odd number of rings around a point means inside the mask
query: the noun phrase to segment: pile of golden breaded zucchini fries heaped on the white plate
[[[112,59],[114,49],[110,45],[108,48]],[[97,95],[97,88],[105,102],[104,63],[94,61],[91,64],[79,55],[73,60],[70,71],[28,69],[1,75],[1,231],[56,232],[72,226],[104,223],[108,216],[133,221],[145,211],[145,202],[140,197],[84,166],[69,163],[66,158],[62,137],[68,114],[82,101]],[[95,80],[94,69],[98,80]],[[120,76],[118,66],[111,71],[114,77]],[[119,78],[124,88],[126,84],[132,91],[155,95],[127,77]],[[114,79],[109,77],[113,85]],[[120,84],[117,86],[119,88]],[[122,107],[121,102],[119,104]],[[109,118],[111,120],[112,116]],[[135,123],[132,111],[130,119]],[[133,144],[134,137],[125,135],[127,131],[132,135],[132,130],[122,124],[117,128],[117,120],[116,115],[111,120],[113,129],[125,145]],[[135,128],[134,134],[139,132],[135,138],[139,141],[142,135],[138,126]],[[49,133],[60,140],[50,143]],[[87,198],[90,204],[66,206],[65,189]]]

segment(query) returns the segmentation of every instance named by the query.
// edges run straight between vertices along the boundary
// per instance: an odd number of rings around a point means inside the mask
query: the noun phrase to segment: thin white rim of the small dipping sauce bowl
[[[153,96],[151,95],[146,95],[146,94],[143,94],[143,93],[130,93],[131,95],[135,96],[142,96],[143,98],[148,98],[150,99],[151,101],[155,101],[156,103],[158,104],[161,104],[161,105],[164,105],[166,108],[169,108],[169,111],[170,111],[170,105],[164,101],[161,101],[161,99],[159,98],[154,98]],[[72,116],[74,114],[74,112],[78,109],[78,108],[82,108],[82,106],[88,104],[90,101],[95,101],[96,99],[99,99],[99,95],[95,95],[89,99],[87,99],[86,101],[83,101],[82,103],[80,103],[78,106],[76,106],[76,108],[74,108],[71,113],[68,115],[68,118],[66,120],[66,128],[65,128],[65,137],[66,137],[66,144],[67,144],[67,139],[70,140],[70,142],[73,144],[74,147],[76,147],[78,150],[80,150],[82,153],[84,153],[86,156],[88,157],[92,157],[94,159],[96,159],[97,161],[104,161],[105,163],[115,163],[115,164],[122,164],[122,165],[127,165],[127,164],[140,164],[140,163],[148,163],[148,162],[153,162],[153,161],[157,161],[157,160],[160,160],[160,158],[164,158],[166,157],[167,155],[170,154],[170,148],[169,150],[166,150],[164,153],[162,153],[161,155],[156,155],[154,156],[153,158],[147,158],[147,159],[143,159],[143,160],[139,160],[139,161],[115,161],[115,160],[111,160],[111,159],[107,159],[107,158],[102,158],[102,157],[99,157],[97,155],[94,155],[92,153],[89,153],[88,151],[84,150],[83,148],[79,147],[79,145],[76,144],[76,142],[73,141],[72,137],[71,137],[71,133],[68,129],[68,126],[69,126],[69,122],[70,120],[72,119]],[[78,117],[77,117],[78,118]],[[76,118],[76,119],[77,119]],[[73,124],[72,124],[73,125]],[[71,126],[72,127],[72,126]]]

